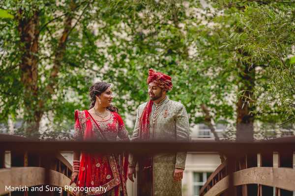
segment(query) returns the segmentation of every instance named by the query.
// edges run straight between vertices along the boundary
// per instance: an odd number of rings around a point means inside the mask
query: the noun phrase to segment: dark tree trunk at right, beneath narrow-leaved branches
[[[248,64],[239,66],[239,81],[243,86],[239,89],[242,92],[237,100],[236,106],[236,141],[252,142],[254,141],[254,109],[253,87],[255,85],[255,70]]]

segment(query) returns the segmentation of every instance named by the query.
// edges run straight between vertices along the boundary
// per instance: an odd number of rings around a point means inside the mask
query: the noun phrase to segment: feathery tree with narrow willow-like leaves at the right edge
[[[218,3],[218,1],[217,1]],[[236,20],[231,40],[231,60],[245,65],[237,104],[251,103],[249,115],[266,123],[294,119],[294,12],[293,1],[219,1],[224,13]],[[250,85],[249,85],[250,84]],[[237,129],[238,131],[238,129]]]

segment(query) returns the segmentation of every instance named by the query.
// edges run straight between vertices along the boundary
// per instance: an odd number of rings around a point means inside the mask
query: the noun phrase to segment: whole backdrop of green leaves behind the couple
[[[236,100],[246,91],[252,93],[247,103],[256,120],[278,123],[295,117],[294,3],[77,0],[73,11],[70,2],[0,2],[0,9],[15,13],[13,20],[0,21],[1,122],[36,118],[32,114],[43,100],[45,126],[65,132],[74,125],[74,111],[89,107],[89,86],[98,80],[112,83],[114,105],[124,120],[125,113],[135,115],[148,101],[149,69],[172,76],[168,96],[185,105],[191,123],[204,123],[200,105],[205,103],[215,123],[231,124],[231,138]],[[26,42],[18,30],[18,10],[26,10],[26,20],[38,15],[39,21],[38,52],[30,54],[38,60],[38,94],[30,99],[21,82],[20,65],[29,54],[21,50]],[[49,95],[68,15],[72,29]],[[254,70],[254,81],[243,79],[246,68]],[[49,129],[43,135],[58,137]]]

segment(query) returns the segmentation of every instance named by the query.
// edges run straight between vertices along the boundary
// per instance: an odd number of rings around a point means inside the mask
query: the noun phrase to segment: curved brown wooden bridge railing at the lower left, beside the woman
[[[5,134],[0,134],[0,141],[16,145],[20,142],[34,142],[28,138]],[[70,196],[72,194],[71,189],[66,191],[64,189],[70,184],[72,166],[60,153],[35,153],[22,149],[22,146],[10,151],[0,149],[0,195],[8,196],[10,193],[11,196],[52,194]],[[9,163],[5,160],[7,155],[10,156]],[[5,165],[9,167],[5,168]],[[71,185],[74,186],[75,184]]]

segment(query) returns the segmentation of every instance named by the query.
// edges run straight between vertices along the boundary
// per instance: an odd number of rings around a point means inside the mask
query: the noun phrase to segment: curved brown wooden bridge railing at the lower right
[[[261,144],[294,143],[295,137]],[[262,149],[229,157],[208,178],[200,196],[293,196],[294,149]],[[274,162],[275,160],[275,162]],[[231,185],[231,187],[230,187]]]

